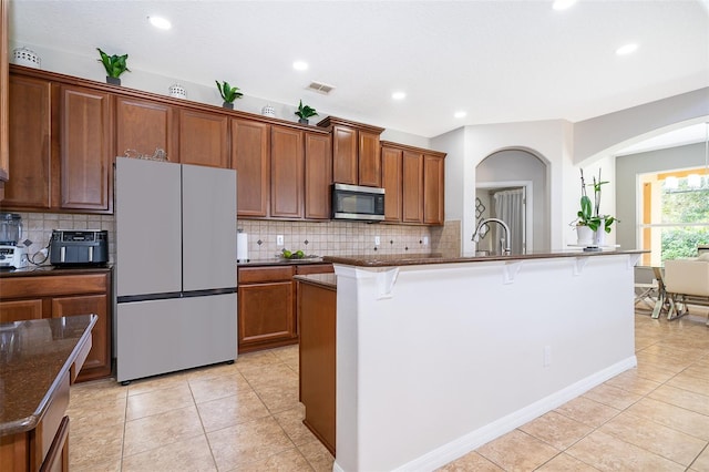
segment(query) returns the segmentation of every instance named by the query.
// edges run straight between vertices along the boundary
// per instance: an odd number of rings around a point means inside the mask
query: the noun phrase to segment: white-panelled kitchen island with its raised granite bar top
[[[644,252],[325,257],[335,470],[433,470],[637,365]]]

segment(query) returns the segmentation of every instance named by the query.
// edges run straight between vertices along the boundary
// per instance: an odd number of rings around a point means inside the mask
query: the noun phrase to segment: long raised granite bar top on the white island
[[[392,254],[392,255],[359,255],[359,256],[325,256],[326,263],[341,264],[358,267],[394,267],[394,266],[419,266],[431,264],[459,264],[459,263],[489,263],[489,261],[511,261],[530,259],[549,259],[558,257],[602,257],[621,254],[645,254],[649,250],[598,250],[584,252],[582,249],[571,250],[548,250],[528,254],[515,254],[511,256],[476,256],[476,257],[443,257],[440,254]]]

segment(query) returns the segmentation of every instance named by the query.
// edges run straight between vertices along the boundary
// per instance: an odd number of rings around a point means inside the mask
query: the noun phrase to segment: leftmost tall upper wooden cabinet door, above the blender
[[[50,83],[10,78],[10,174],[3,206],[48,209],[51,176]]]

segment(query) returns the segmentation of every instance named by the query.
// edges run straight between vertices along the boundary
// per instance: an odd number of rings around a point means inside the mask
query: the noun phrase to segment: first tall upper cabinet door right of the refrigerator
[[[270,125],[232,120],[232,167],[236,170],[238,216],[268,216]]]

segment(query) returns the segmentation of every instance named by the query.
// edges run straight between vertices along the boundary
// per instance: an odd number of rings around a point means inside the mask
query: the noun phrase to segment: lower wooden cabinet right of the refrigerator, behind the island
[[[331,264],[238,268],[238,351],[298,342],[296,274],[332,271]]]

